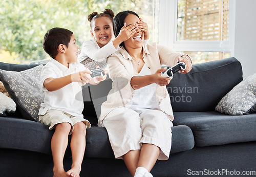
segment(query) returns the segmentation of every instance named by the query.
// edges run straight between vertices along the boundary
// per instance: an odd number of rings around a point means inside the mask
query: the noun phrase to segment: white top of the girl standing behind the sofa
[[[95,38],[92,38],[83,42],[81,53],[79,54],[77,60],[81,62],[89,57],[98,62],[106,62],[106,57],[115,53],[118,48],[119,47],[114,47],[112,40],[107,45],[100,48]]]

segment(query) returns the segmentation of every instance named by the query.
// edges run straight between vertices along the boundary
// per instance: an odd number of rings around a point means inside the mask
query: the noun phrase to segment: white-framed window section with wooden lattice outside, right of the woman
[[[229,0],[161,0],[159,43],[188,53],[194,63],[230,57],[231,7]]]

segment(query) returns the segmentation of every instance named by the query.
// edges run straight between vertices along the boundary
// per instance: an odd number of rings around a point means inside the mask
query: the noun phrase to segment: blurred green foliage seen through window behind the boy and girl
[[[94,11],[102,12],[104,9],[112,9],[115,14],[123,10],[137,12],[148,24],[150,39],[157,41],[157,2],[153,0],[1,0],[0,61],[29,63],[33,60],[49,58],[42,49],[42,39],[53,27],[71,30],[77,38],[77,45],[81,48],[82,42],[92,37],[87,16]]]

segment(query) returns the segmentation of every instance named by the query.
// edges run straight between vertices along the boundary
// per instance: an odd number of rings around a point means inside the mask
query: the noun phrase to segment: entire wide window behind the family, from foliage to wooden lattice
[[[12,63],[49,58],[41,44],[53,27],[73,31],[81,47],[91,38],[87,16],[112,9],[137,12],[148,25],[150,42],[188,53],[194,63],[222,59],[231,51],[232,7],[230,0],[3,0],[0,58]]]

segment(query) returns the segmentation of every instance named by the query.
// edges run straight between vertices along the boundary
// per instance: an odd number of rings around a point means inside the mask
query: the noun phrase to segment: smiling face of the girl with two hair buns
[[[114,34],[112,20],[105,16],[94,19],[92,21],[91,34],[100,48],[105,46],[109,43]]]

